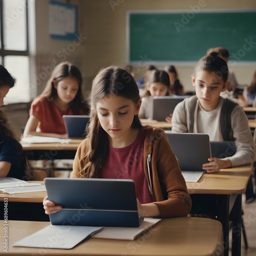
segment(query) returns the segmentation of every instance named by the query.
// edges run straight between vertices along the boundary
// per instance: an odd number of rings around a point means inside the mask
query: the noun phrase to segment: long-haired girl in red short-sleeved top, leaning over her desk
[[[68,138],[63,115],[88,114],[82,105],[82,76],[69,62],[61,62],[52,72],[45,90],[31,104],[30,117],[24,130],[28,135]]]

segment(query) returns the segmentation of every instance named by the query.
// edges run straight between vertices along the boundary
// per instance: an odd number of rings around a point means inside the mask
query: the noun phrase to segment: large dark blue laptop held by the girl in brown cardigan
[[[50,201],[63,208],[52,225],[138,227],[135,185],[128,179],[45,178]]]

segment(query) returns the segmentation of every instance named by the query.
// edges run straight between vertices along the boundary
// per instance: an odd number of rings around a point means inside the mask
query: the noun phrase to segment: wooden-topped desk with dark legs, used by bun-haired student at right
[[[232,256],[241,255],[242,194],[251,172],[252,165],[227,168],[219,173],[205,173],[196,183],[186,183],[192,198],[191,214],[216,216],[222,223],[225,256],[228,256],[229,217],[232,220]]]

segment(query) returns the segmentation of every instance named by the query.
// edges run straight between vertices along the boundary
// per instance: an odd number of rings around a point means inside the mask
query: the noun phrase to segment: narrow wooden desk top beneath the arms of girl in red
[[[72,139],[70,143],[24,143],[23,150],[74,150],[76,151],[82,139]]]

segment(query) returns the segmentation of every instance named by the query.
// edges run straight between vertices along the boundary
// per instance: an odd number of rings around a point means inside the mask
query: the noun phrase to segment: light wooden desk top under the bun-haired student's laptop
[[[203,174],[198,182],[186,182],[189,194],[232,195],[245,193],[252,165],[221,169]]]

